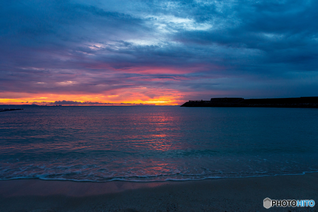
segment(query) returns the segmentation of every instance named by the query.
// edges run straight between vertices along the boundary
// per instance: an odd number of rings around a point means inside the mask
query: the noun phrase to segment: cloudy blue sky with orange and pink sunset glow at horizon
[[[0,0],[0,104],[318,96],[318,1]]]

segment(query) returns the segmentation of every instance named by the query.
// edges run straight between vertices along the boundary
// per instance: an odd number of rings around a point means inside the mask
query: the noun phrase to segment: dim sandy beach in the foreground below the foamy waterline
[[[263,207],[266,197],[318,202],[318,173],[149,183],[7,180],[0,188],[1,211],[318,211]]]

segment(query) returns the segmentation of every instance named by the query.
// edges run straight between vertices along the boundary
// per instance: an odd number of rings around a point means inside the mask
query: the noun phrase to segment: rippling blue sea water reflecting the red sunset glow
[[[0,113],[0,180],[318,172],[318,109],[24,106]]]

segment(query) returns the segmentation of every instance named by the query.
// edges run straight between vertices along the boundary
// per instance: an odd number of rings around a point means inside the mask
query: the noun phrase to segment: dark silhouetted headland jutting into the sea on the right
[[[318,96],[272,99],[211,98],[210,101],[190,100],[180,107],[318,108]]]

